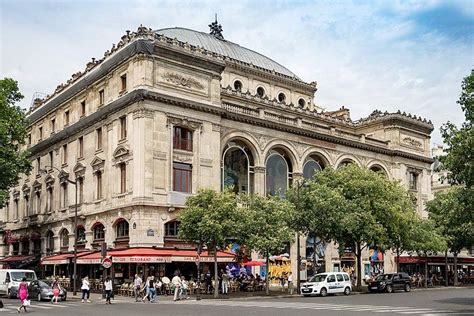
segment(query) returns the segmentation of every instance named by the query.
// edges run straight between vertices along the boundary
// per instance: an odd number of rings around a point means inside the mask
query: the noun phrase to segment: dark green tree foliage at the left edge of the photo
[[[0,207],[5,205],[8,190],[17,184],[19,174],[31,170],[29,153],[21,150],[27,127],[25,111],[15,106],[21,99],[15,80],[0,80]]]

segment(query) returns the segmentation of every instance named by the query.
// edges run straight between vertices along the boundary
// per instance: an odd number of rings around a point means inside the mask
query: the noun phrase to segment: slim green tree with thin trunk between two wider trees
[[[240,203],[246,207],[248,225],[244,243],[266,259],[266,294],[269,295],[269,258],[277,255],[291,242],[295,231],[290,227],[293,205],[278,196],[242,195]]]

